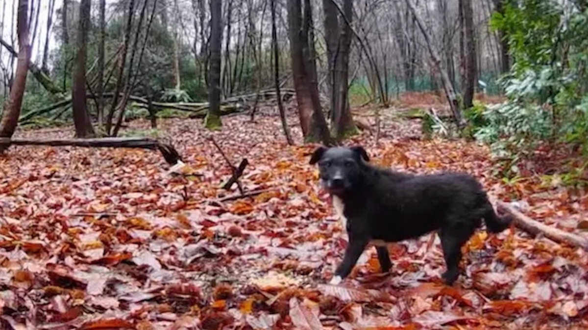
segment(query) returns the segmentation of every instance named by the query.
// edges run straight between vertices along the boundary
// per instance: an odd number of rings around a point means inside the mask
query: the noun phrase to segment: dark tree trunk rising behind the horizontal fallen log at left
[[[76,40],[76,59],[72,82],[72,106],[76,137],[93,137],[94,129],[86,107],[86,41],[91,19],[91,0],[81,0],[79,5],[79,25]]]

